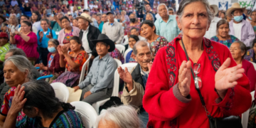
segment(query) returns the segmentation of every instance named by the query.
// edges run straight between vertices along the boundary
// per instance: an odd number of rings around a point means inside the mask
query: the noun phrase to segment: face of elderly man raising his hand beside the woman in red
[[[153,55],[149,49],[149,46],[136,46],[137,49],[137,55],[135,55],[135,60],[139,65],[142,66],[142,68],[148,68],[147,64],[150,63],[150,61],[153,58]]]

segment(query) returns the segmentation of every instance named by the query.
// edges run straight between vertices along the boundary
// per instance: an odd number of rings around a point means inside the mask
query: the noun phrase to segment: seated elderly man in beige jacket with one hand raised
[[[138,107],[139,118],[142,119],[144,124],[147,124],[149,115],[142,107],[142,98],[146,87],[146,80],[151,69],[153,55],[151,47],[146,41],[135,43],[133,51],[138,65],[132,68],[130,73],[127,68],[124,70],[121,67],[117,68],[120,78],[125,82],[121,101],[124,105]]]

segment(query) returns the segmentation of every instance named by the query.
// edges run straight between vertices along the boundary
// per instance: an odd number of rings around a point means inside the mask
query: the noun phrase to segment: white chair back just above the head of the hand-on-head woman
[[[55,97],[57,97],[61,102],[68,102],[69,91],[66,85],[62,82],[53,82],[50,84],[55,92]]]

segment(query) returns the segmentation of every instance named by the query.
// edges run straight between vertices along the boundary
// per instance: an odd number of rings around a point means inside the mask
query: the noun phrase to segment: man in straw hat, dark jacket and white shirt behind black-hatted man
[[[85,13],[82,13],[77,17],[78,27],[80,28],[79,38],[82,41],[82,47],[85,48],[86,53],[92,53],[94,57],[97,56],[97,51],[95,44],[91,40],[97,39],[100,35],[100,30],[95,26],[92,26],[91,16]]]

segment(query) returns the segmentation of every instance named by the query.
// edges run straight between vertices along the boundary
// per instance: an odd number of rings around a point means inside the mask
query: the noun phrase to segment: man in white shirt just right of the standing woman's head
[[[204,37],[210,39],[213,36],[216,36],[216,30],[217,30],[217,23],[218,21],[221,20],[221,18],[216,17],[216,15],[218,14],[218,6],[215,4],[210,5],[210,12],[213,13],[214,18],[212,19],[212,21],[210,22],[210,28],[208,29],[208,31],[206,31],[206,35]]]

